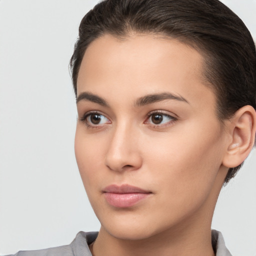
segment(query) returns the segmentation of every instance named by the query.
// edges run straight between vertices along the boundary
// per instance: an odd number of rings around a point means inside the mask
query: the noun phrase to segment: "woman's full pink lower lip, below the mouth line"
[[[110,193],[105,192],[104,196],[106,201],[114,206],[119,208],[126,208],[130,207],[139,201],[145,199],[149,196],[150,193],[125,193],[125,194],[118,194],[118,193]]]

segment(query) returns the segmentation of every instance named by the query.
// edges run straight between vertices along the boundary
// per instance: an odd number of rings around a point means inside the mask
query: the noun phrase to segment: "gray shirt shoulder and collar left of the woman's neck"
[[[91,256],[88,244],[96,239],[97,234],[98,232],[80,231],[68,245],[41,250],[18,251],[14,255],[6,256]]]

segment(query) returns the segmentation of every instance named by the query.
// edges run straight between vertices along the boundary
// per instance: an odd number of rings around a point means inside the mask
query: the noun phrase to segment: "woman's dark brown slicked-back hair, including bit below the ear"
[[[203,76],[216,95],[220,121],[244,105],[256,108],[256,52],[242,20],[219,0],[102,0],[81,20],[70,59],[73,88],[84,52],[96,38],[131,32],[175,39],[204,57]],[[229,168],[224,183],[242,164]]]

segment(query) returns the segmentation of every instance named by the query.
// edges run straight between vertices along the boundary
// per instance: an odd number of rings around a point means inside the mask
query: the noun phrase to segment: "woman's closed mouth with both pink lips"
[[[103,189],[104,197],[108,204],[126,208],[135,205],[147,198],[152,192],[128,184],[109,185]]]

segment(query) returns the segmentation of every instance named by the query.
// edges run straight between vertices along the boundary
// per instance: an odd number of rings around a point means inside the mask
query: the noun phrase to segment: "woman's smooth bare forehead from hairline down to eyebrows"
[[[214,94],[203,83],[202,55],[174,39],[132,34],[123,39],[103,35],[86,49],[77,79],[84,90],[105,96],[127,97],[171,91],[201,104]]]

